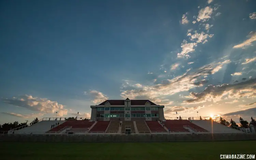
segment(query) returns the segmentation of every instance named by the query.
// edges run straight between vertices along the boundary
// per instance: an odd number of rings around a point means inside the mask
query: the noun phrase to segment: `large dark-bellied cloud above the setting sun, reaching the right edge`
[[[256,97],[256,79],[250,79],[235,84],[208,85],[201,93],[191,92],[193,99],[184,103],[202,103],[206,101],[219,101],[226,98]]]

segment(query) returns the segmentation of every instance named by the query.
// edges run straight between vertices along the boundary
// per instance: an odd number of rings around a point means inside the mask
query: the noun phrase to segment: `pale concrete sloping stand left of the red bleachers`
[[[44,134],[46,131],[50,130],[51,129],[51,126],[56,123],[59,123],[62,124],[64,123],[65,121],[41,121],[41,122],[38,122],[34,125],[31,125],[29,127],[26,127],[26,128],[22,128],[22,129],[19,129],[19,130],[15,130],[15,131],[9,131],[8,134]]]

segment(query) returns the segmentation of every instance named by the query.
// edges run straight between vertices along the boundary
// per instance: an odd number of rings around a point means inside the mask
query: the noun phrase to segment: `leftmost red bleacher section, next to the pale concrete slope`
[[[77,120],[73,120],[73,121],[66,121],[60,125],[58,125],[57,127],[54,127],[52,129],[50,129],[49,131],[47,131],[46,133],[55,133],[55,132],[59,132],[60,130],[64,129],[65,127],[72,127],[72,129],[76,128],[76,131],[83,131],[84,129],[88,129],[90,128],[91,125],[93,125],[95,122],[90,122],[90,121],[77,121]]]

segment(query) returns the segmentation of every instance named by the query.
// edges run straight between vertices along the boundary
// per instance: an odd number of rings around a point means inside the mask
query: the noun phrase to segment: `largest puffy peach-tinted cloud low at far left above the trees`
[[[68,113],[64,106],[58,104],[57,101],[51,101],[47,98],[32,97],[31,95],[19,96],[19,98],[4,98],[2,99],[4,103],[10,105],[24,107],[32,111],[40,111],[42,113],[55,113],[58,112],[58,116],[63,116]]]

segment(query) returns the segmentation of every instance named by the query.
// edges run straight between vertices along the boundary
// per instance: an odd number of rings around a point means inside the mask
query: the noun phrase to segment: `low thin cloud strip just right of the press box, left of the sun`
[[[198,106],[198,107],[183,107],[183,106],[172,106],[172,107],[166,107],[164,113],[165,114],[171,114],[173,112],[186,112],[191,113],[194,111],[197,111],[201,108],[204,108],[204,106]]]

